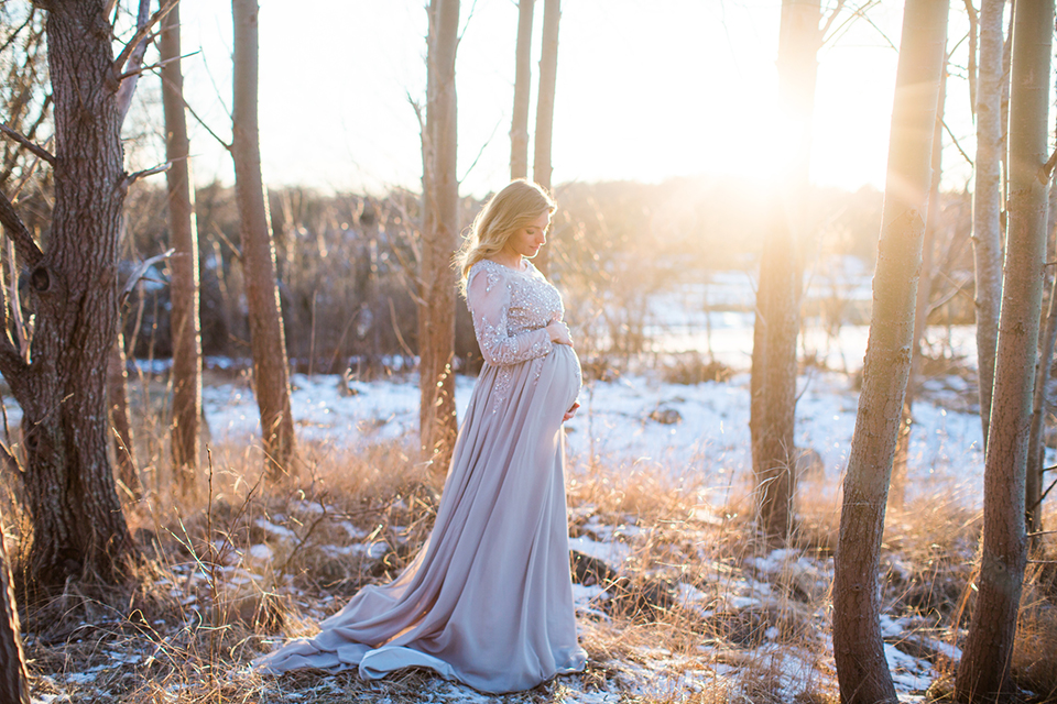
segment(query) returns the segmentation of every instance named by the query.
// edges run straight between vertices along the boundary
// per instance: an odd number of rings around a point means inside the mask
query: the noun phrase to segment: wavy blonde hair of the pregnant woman
[[[459,287],[462,295],[466,295],[466,279],[471,266],[501,252],[510,235],[554,209],[554,199],[543,186],[524,178],[510,182],[492,196],[473,219],[470,234],[455,255],[461,272]]]

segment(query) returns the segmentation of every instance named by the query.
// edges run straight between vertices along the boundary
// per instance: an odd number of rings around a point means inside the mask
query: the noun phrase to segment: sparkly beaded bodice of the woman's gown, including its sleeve
[[[470,268],[466,299],[481,354],[493,366],[546,356],[552,343],[544,328],[565,315],[558,290],[527,260],[520,272],[481,260]]]

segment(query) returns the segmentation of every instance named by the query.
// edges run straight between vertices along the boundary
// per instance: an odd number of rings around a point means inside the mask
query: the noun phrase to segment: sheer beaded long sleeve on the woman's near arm
[[[544,328],[510,334],[506,316],[511,286],[504,278],[493,266],[475,266],[466,295],[481,354],[492,366],[544,356],[552,349],[551,336]]]

